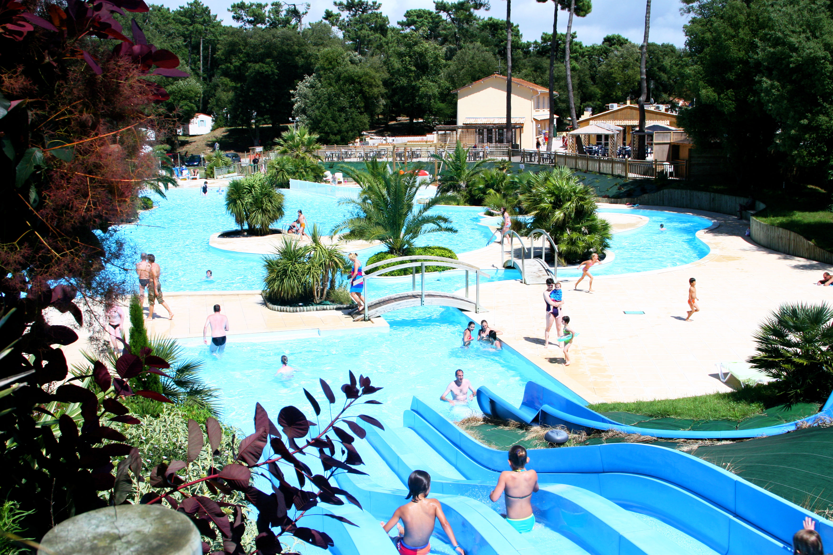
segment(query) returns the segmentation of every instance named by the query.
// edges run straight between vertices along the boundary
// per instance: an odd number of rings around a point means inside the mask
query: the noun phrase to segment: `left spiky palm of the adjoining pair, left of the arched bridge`
[[[271,300],[288,305],[311,296],[310,250],[309,245],[284,237],[273,256],[263,257],[264,289]]]

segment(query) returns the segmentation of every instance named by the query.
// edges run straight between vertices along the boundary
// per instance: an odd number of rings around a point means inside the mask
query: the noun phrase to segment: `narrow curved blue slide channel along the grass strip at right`
[[[757,438],[765,435],[786,434],[795,430],[799,423],[812,424],[820,417],[833,418],[833,394],[831,394],[819,413],[795,422],[767,426],[766,428],[712,431],[640,428],[611,420],[605,415],[588,409],[576,403],[576,401],[567,399],[564,395],[533,381],[526,382],[523,399],[519,407],[507,403],[505,399],[501,399],[499,395],[492,393],[485,386],[477,389],[477,404],[480,405],[483,414],[526,424],[544,424],[553,427],[563,425],[571,431],[614,429],[625,434],[676,439]]]

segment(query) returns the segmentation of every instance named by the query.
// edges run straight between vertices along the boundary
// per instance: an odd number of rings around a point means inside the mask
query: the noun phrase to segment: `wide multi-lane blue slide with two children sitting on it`
[[[786,555],[803,518],[819,520],[687,453],[606,444],[530,451],[529,468],[541,483],[532,496],[541,524],[521,535],[500,517],[502,501],[487,497],[498,473],[508,469],[505,451],[479,444],[416,398],[403,421],[400,429],[368,430],[367,440],[401,482],[416,468],[431,473],[431,495],[440,499],[466,553]],[[382,486],[347,473],[337,480],[377,520],[403,503],[402,483]],[[833,543],[831,523],[821,520],[817,529]],[[362,542],[387,541],[381,527],[367,532]],[[439,527],[435,533],[432,543],[447,548]]]

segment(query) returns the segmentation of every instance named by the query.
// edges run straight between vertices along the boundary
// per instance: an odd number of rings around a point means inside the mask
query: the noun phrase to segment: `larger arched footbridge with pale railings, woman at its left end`
[[[441,256],[400,256],[398,258],[389,258],[368,265],[364,271],[378,268],[382,265],[388,265],[396,262],[402,264],[394,265],[389,268],[382,268],[376,270],[371,274],[366,274],[362,278],[363,295],[366,300],[365,308],[362,312],[357,312],[353,315],[353,321],[370,320],[379,315],[392,310],[399,310],[411,306],[454,306],[461,310],[471,310],[473,312],[486,312],[480,305],[480,276],[489,277],[486,272],[480,270],[476,265],[454,260],[453,258],[444,258]],[[466,296],[461,297],[446,291],[426,291],[425,290],[425,266],[426,263],[432,266],[447,266],[449,268],[456,268],[458,270],[466,270]],[[381,299],[367,300],[367,280],[377,275],[387,274],[393,270],[402,270],[404,268],[411,268],[411,291],[404,293],[394,293],[387,295]],[[416,290],[416,269],[420,270],[420,290]],[[469,273],[474,272],[475,275],[475,299],[469,299]]]

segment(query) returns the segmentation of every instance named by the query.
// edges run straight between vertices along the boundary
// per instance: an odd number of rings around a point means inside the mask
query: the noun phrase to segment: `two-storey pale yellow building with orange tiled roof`
[[[452,92],[457,93],[457,125],[436,127],[442,142],[459,140],[465,145],[509,142],[506,140],[506,76],[490,75]],[[551,131],[548,129],[549,89],[512,78],[511,117],[512,148],[534,149],[536,137],[543,131]]]

